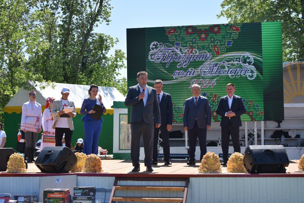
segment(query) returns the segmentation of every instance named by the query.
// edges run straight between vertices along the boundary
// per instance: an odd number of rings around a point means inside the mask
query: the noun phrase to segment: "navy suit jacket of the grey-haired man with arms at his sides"
[[[188,130],[191,130],[194,126],[195,118],[199,128],[206,128],[206,125],[211,126],[211,108],[206,97],[199,96],[196,107],[193,97],[186,99],[183,117],[184,127],[188,126]]]

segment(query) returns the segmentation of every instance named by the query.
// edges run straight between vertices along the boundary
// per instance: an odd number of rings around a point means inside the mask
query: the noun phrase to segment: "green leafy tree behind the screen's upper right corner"
[[[218,18],[230,23],[282,21],[283,61],[304,58],[304,0],[224,0]]]

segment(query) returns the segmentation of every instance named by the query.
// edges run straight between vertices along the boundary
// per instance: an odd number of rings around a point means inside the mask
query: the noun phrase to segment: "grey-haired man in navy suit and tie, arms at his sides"
[[[192,85],[192,97],[186,99],[184,109],[184,129],[188,131],[189,139],[189,161],[188,165],[195,164],[196,138],[199,138],[201,150],[200,160],[207,152],[206,136],[207,130],[211,127],[211,108],[206,97],[200,96],[201,87],[198,84]]]

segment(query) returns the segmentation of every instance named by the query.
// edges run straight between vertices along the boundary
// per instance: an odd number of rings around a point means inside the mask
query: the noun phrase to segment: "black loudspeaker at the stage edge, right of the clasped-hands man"
[[[243,161],[248,173],[285,173],[289,165],[283,145],[250,145]]]

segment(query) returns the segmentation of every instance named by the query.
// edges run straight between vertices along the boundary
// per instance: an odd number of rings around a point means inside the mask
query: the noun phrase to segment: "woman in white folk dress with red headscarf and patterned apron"
[[[54,147],[56,144],[55,141],[55,129],[52,128],[54,117],[51,115],[54,97],[47,98],[47,104],[42,115],[42,130],[43,135],[41,136],[41,145],[40,151],[44,147]]]

